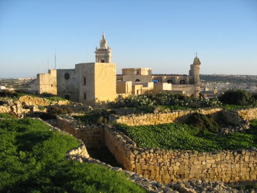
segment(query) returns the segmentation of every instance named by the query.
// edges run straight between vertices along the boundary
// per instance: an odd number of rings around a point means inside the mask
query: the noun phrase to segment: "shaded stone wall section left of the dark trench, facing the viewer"
[[[58,115],[57,127],[62,131],[72,134],[81,139],[87,148],[98,148],[104,146],[104,128],[89,125],[78,125],[71,115]]]

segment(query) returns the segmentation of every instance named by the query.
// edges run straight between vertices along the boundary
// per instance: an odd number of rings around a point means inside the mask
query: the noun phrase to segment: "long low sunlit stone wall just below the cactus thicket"
[[[126,124],[128,126],[139,126],[139,125],[158,125],[158,124],[167,124],[174,121],[182,120],[186,118],[187,115],[192,113],[201,113],[201,114],[214,114],[223,109],[198,109],[198,110],[180,110],[167,113],[149,113],[149,114],[139,114],[139,115],[127,115],[127,116],[117,116],[110,115],[109,121],[117,122],[120,124]]]

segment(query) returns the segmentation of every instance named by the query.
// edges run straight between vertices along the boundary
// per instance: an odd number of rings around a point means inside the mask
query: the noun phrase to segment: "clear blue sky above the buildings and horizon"
[[[0,77],[45,73],[95,62],[102,31],[117,74],[151,67],[188,74],[195,52],[201,74],[257,75],[256,0],[0,0]]]

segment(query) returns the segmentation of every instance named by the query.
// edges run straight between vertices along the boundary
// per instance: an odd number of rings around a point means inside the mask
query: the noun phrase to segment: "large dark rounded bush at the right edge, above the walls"
[[[219,97],[224,104],[235,104],[240,106],[256,107],[257,101],[247,91],[237,89],[226,91]]]

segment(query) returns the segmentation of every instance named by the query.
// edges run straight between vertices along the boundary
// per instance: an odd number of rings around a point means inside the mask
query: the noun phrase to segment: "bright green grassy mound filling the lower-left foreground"
[[[1,120],[0,192],[145,192],[121,172],[66,160],[78,145],[39,120]]]

